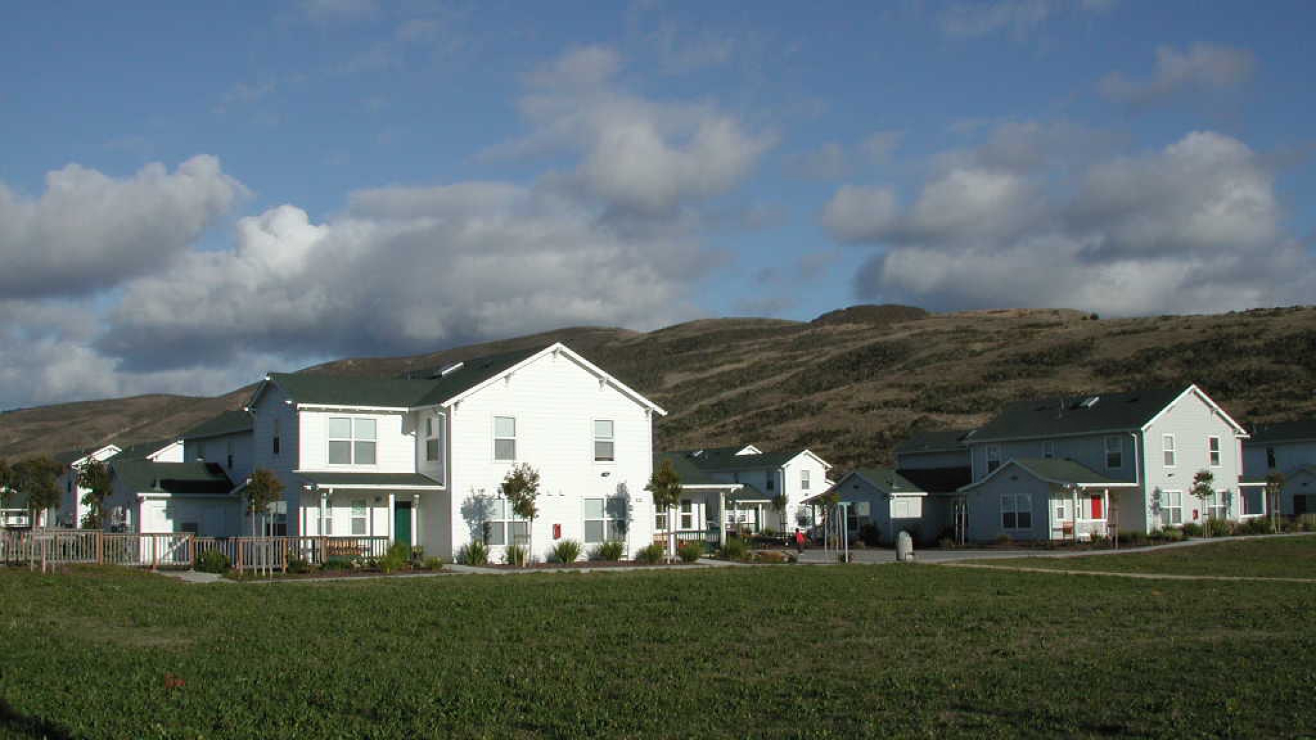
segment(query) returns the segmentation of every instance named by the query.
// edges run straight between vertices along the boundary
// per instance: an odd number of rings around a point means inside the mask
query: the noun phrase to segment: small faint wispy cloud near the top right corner
[[[1198,43],[1179,50],[1161,46],[1155,51],[1155,71],[1148,79],[1130,79],[1112,72],[1101,79],[1101,95],[1130,105],[1149,105],[1194,92],[1219,92],[1241,87],[1252,79],[1255,61],[1252,51],[1230,46]]]

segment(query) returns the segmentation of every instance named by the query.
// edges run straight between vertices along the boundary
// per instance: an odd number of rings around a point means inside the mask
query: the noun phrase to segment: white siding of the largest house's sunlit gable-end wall
[[[494,461],[494,417],[516,419],[516,460],[540,471],[540,516],[534,524],[534,557],[553,546],[553,525],[563,539],[584,540],[583,499],[629,492],[633,514],[628,549],[634,553],[653,541],[653,502],[645,486],[653,466],[651,421],[646,410],[566,354],[545,354],[508,378],[491,384],[449,410],[451,495],[446,500],[450,540],[434,545],[451,557],[471,539],[462,516],[465,500],[496,496],[511,470]],[[616,461],[594,461],[594,421],[615,423]],[[424,515],[422,515],[424,516]],[[433,515],[426,524],[443,524]],[[426,546],[426,549],[430,549]],[[501,548],[499,548],[501,549]],[[495,558],[500,552],[492,553]]]

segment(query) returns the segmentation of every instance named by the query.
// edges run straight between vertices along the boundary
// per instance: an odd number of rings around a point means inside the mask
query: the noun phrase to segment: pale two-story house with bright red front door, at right
[[[1248,437],[1202,388],[1034,399],[965,438],[970,540],[1086,539],[1265,514],[1244,482]],[[1208,470],[1216,494],[1191,494]]]

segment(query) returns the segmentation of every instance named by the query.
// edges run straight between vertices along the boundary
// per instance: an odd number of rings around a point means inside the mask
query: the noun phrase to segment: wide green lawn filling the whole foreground
[[[1316,733],[1316,587],[940,566],[188,586],[0,570],[0,733]]]

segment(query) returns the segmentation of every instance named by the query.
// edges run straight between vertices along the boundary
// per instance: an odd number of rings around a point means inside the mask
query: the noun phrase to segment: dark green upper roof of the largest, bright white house
[[[318,373],[270,373],[293,403],[415,408],[443,403],[544,352],[534,348],[462,362],[437,378],[358,378]]]

